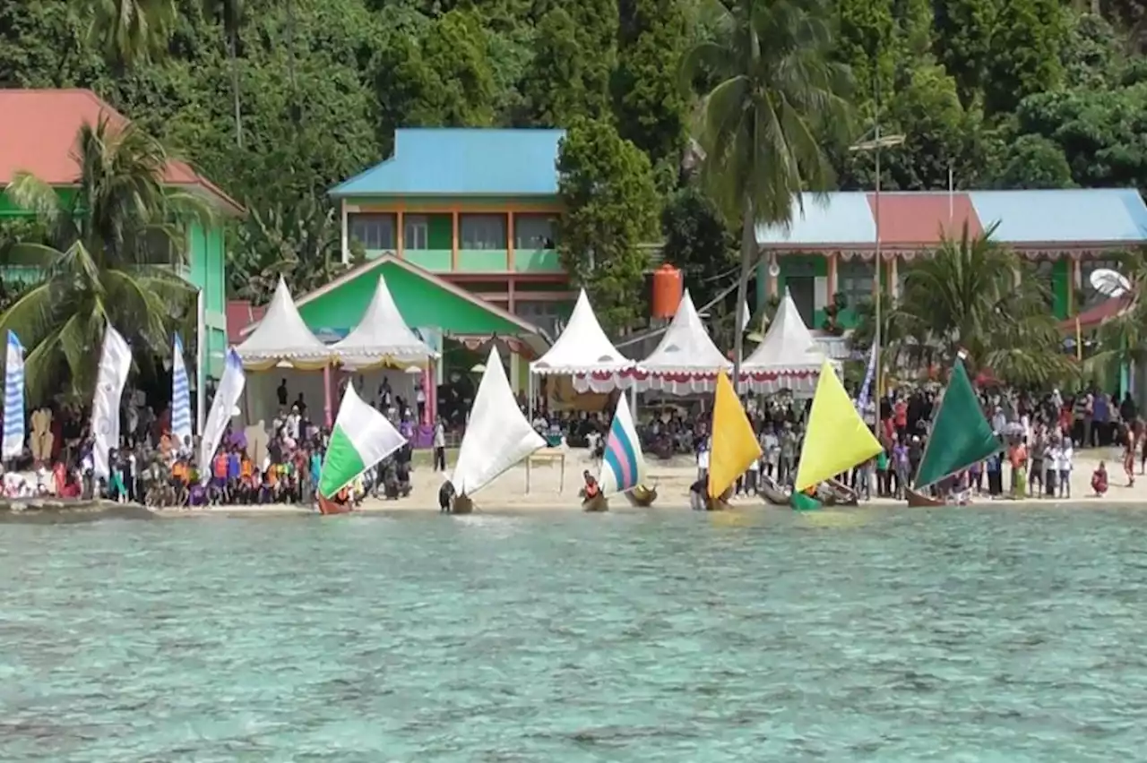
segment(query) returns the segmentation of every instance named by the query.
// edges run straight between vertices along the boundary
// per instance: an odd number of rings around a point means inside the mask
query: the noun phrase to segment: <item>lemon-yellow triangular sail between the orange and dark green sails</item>
[[[825,361],[820,367],[817,394],[812,399],[809,426],[801,447],[795,489],[806,490],[846,472],[880,450],[880,442],[860,418],[844,385],[836,378],[836,371]]]

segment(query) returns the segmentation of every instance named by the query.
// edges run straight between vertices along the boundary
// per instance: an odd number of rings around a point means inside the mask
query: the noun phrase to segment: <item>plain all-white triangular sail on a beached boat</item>
[[[473,496],[507,469],[545,447],[546,441],[533,431],[518,408],[498,349],[492,348],[454,465],[454,489],[459,495]]]

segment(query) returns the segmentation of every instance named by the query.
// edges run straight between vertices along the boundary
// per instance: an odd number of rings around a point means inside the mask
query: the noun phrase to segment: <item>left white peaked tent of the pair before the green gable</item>
[[[330,348],[306,328],[295,308],[287,282],[281,277],[259,325],[235,352],[243,361],[243,368],[258,371],[280,363],[314,370],[328,365],[331,360]]]

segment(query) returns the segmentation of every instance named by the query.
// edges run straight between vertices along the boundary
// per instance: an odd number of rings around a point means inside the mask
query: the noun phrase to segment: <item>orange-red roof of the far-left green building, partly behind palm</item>
[[[114,129],[128,124],[95,93],[83,89],[0,89],[0,186],[11,182],[18,172],[30,172],[52,186],[71,186],[79,175],[79,128],[85,123],[94,126],[101,116]],[[170,186],[202,188],[233,211],[243,212],[235,199],[186,162],[169,160],[163,180]]]

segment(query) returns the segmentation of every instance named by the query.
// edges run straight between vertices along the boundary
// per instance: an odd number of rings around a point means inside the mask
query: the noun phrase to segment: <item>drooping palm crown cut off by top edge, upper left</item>
[[[179,18],[175,0],[77,0],[88,34],[118,66],[147,63],[167,49]]]

